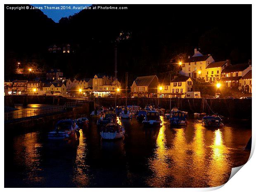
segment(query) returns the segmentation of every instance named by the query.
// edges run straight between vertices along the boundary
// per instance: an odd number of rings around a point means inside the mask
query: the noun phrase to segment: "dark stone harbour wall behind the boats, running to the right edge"
[[[177,107],[189,113],[215,113],[225,117],[244,119],[251,118],[251,101],[251,99],[171,98],[171,108]],[[95,98],[95,103],[106,107],[114,107],[115,98]],[[116,104],[125,106],[126,98],[117,98]],[[139,105],[144,108],[147,104],[170,109],[169,98],[127,98],[127,105]]]

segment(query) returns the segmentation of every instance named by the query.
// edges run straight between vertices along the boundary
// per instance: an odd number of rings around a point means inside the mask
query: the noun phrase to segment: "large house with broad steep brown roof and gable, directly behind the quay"
[[[157,97],[159,80],[156,75],[137,77],[130,87],[131,97]]]

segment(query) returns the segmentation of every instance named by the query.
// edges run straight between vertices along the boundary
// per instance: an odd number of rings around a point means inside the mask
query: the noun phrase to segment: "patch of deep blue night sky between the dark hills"
[[[56,23],[59,22],[59,19],[62,17],[69,17],[70,15],[73,15],[75,13],[78,13],[81,11],[81,9],[72,9],[73,6],[79,7],[79,6],[90,6],[91,4],[31,4],[34,7],[60,7],[60,6],[70,6],[71,9],[41,9],[41,11],[46,14],[49,18],[51,18]]]

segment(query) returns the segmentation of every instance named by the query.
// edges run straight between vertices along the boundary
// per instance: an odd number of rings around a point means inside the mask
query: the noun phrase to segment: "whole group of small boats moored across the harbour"
[[[92,118],[98,118],[97,127],[100,129],[100,136],[106,140],[122,138],[125,135],[125,128],[121,123],[121,119],[131,119],[135,116],[137,121],[142,122],[144,126],[161,126],[161,115],[169,121],[171,126],[184,126],[187,124],[186,111],[173,108],[169,113],[165,113],[165,109],[155,109],[151,105],[147,105],[144,109],[141,109],[140,106],[122,106],[116,107],[116,109],[112,107],[109,109],[96,107],[90,114]],[[221,117],[217,115],[205,115],[202,123],[206,127],[224,126]],[[55,140],[66,139],[73,133],[79,134],[80,128],[88,127],[88,125],[89,120],[85,116],[74,120],[60,120],[56,123],[55,129],[48,133],[48,138]]]

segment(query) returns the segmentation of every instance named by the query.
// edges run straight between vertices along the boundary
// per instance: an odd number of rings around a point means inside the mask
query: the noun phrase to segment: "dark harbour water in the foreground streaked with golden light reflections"
[[[113,142],[101,140],[96,119],[69,142],[47,140],[52,125],[5,133],[5,187],[214,187],[250,154],[245,121],[220,129],[194,117],[186,128],[143,128],[135,118],[123,125],[126,137]]]

